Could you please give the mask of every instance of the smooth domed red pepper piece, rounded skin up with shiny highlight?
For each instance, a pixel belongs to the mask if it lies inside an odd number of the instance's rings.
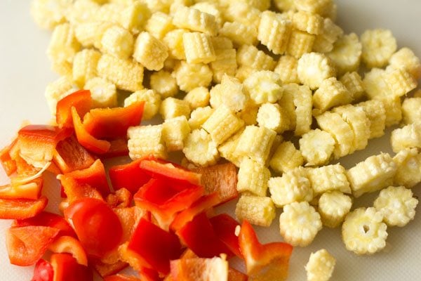
[[[104,201],[82,198],[70,204],[64,213],[87,254],[102,258],[119,246],[123,228]]]

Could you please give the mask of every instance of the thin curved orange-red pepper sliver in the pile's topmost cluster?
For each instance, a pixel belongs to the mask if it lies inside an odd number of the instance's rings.
[[[83,148],[98,154],[103,154],[109,150],[111,144],[108,141],[98,140],[98,138],[94,138],[86,131],[74,107],[72,107],[72,118],[77,141]]]

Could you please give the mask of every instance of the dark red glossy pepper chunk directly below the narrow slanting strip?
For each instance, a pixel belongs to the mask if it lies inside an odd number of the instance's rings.
[[[218,239],[205,213],[195,216],[192,221],[177,231],[177,235],[187,247],[194,251],[194,254],[201,258],[213,258],[220,254],[234,256],[232,251]]]

